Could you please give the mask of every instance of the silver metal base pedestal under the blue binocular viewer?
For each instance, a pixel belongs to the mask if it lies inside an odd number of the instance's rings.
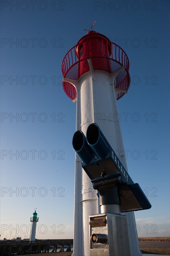
[[[131,255],[125,215],[91,215],[90,237],[91,256]]]

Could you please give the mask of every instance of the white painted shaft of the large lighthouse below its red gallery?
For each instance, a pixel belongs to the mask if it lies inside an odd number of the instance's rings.
[[[83,74],[78,81],[70,80],[77,90],[76,130],[86,135],[88,126],[96,122],[115,152],[124,152],[115,92],[115,74],[102,70]],[[121,71],[121,69],[120,69]],[[66,81],[63,79],[63,81]],[[69,81],[69,79],[67,79]],[[125,156],[121,162],[127,170]],[[81,167],[76,154],[75,162],[75,208],[74,208],[74,249],[73,256],[90,255],[89,215],[98,214],[98,197],[92,188],[92,182]],[[134,213],[127,213],[127,231],[130,240],[131,256],[141,256],[138,247]]]

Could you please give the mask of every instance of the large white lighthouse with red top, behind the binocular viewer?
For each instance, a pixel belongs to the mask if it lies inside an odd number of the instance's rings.
[[[111,147],[120,153],[119,159],[127,170],[117,118],[117,100],[130,86],[129,59],[124,50],[105,35],[88,31],[65,55],[62,73],[65,93],[77,102],[76,130],[86,134],[90,124],[98,124]],[[98,213],[96,190],[76,154],[73,256],[90,255],[89,216]],[[141,256],[134,213],[125,215],[130,255]]]

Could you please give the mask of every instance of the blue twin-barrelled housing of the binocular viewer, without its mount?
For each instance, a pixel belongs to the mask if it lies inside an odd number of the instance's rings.
[[[77,131],[72,144],[94,189],[98,189],[98,182],[112,182],[117,178],[115,184],[119,189],[121,212],[151,208],[139,184],[132,181],[96,123],[87,128],[87,139],[82,131]]]

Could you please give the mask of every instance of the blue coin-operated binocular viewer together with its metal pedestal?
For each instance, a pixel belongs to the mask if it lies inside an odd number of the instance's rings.
[[[101,214],[90,216],[91,256],[130,256],[126,216],[122,212],[150,209],[151,204],[134,183],[96,123],[73,135],[72,145],[82,168],[98,190]]]

